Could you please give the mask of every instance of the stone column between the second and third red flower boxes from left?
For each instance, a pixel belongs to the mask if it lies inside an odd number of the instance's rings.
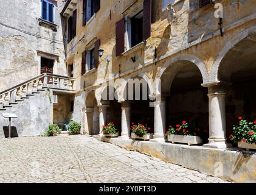
[[[158,96],[154,106],[154,138],[150,141],[163,143],[166,141],[166,97]]]

